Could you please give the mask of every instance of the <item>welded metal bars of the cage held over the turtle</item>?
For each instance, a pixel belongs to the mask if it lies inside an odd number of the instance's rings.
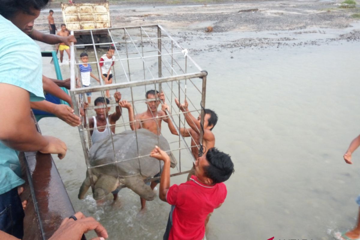
[[[148,30],[150,29],[150,30]],[[171,83],[171,86],[173,86],[173,83],[178,85],[178,97],[179,100],[180,99],[180,95],[184,95],[184,99],[187,99],[190,101],[190,103],[192,104],[194,110],[189,110],[189,113],[191,112],[195,112],[195,113],[200,113],[200,122],[201,122],[201,126],[203,126],[204,124],[204,116],[205,116],[205,112],[204,112],[204,108],[205,108],[205,97],[206,97],[206,78],[207,78],[207,72],[204,71],[201,67],[199,67],[199,65],[197,63],[195,63],[195,61],[191,58],[191,56],[188,55],[188,51],[187,49],[181,47],[177,41],[171,37],[168,32],[161,26],[161,25],[146,25],[146,26],[132,26],[132,27],[113,27],[113,28],[104,28],[104,29],[100,29],[100,30],[104,30],[108,32],[108,37],[109,37],[109,42],[105,42],[105,43],[95,43],[94,41],[94,36],[95,36],[95,31],[99,31],[99,29],[96,30],[75,30],[75,31],[71,31],[71,34],[73,35],[74,33],[90,33],[91,38],[93,40],[92,44],[80,44],[80,45],[74,45],[73,43],[71,43],[70,46],[70,53],[71,53],[71,59],[70,59],[70,79],[71,79],[71,89],[70,89],[70,95],[72,98],[72,102],[74,103],[74,110],[75,113],[77,115],[80,116],[80,108],[83,108],[83,103],[86,100],[86,93],[87,92],[101,92],[101,96],[105,96],[105,91],[106,90],[118,90],[118,89],[126,89],[129,88],[131,91],[131,104],[134,106],[134,98],[133,98],[133,93],[132,93],[132,88],[133,87],[138,87],[138,86],[146,86],[147,85],[154,85],[155,90],[161,92],[162,90],[162,84],[167,84]],[[134,38],[134,36],[132,36],[129,32],[130,31],[136,31],[139,30],[140,32],[140,38],[139,36],[137,36],[137,39]],[[148,33],[148,31],[152,31],[152,33],[156,33],[155,36],[150,36]],[[113,31],[123,31],[125,38],[123,37],[121,41],[116,41],[114,40],[114,37],[112,35]],[[144,37],[143,37],[144,36]],[[165,42],[165,40],[171,43],[171,49],[167,49],[166,46],[163,44],[163,42]],[[151,74],[151,71],[149,69],[149,66],[147,66],[146,63],[146,58],[148,58],[148,56],[145,56],[144,51],[141,52],[138,47],[136,46],[136,44],[140,44],[141,49],[143,49],[143,45],[146,43],[150,43],[151,45],[155,46],[155,50],[153,50],[153,52],[155,52],[155,55],[152,55],[152,57],[157,57],[157,65],[158,65],[158,74],[157,76],[153,76]],[[117,45],[122,44],[126,46],[126,54],[120,54],[117,48]],[[108,45],[108,46],[115,46],[115,58],[117,61],[120,61],[122,69],[123,69],[123,74],[126,78],[127,81],[125,82],[115,82],[112,84],[107,84],[105,85],[104,81],[102,81],[102,76],[100,73],[100,62],[99,62],[99,56],[97,54],[97,49],[96,47],[100,47],[100,46],[104,46],[104,45]],[[130,67],[129,67],[129,60],[131,59],[135,59],[135,58],[130,58],[129,55],[130,54],[134,54],[134,53],[129,53],[128,52],[128,45],[132,45],[134,47],[134,49],[138,50],[138,54],[139,56],[136,57],[138,59],[141,59],[143,62],[143,71],[144,71],[144,79],[131,79],[131,72],[130,72]],[[100,85],[99,86],[89,86],[89,87],[81,87],[80,83],[79,83],[79,77],[80,77],[80,72],[79,72],[79,68],[78,65],[80,65],[81,63],[79,63],[79,61],[77,60],[77,53],[76,53],[76,49],[77,47],[92,47],[94,50],[94,54],[95,54],[95,62],[89,62],[88,64],[96,64],[96,67],[98,69],[98,73],[99,73],[99,80],[100,80]],[[175,49],[175,51],[174,51]],[[122,58],[121,55],[126,55],[125,58]],[[178,60],[175,58],[178,57],[179,55],[181,56],[180,58],[183,58],[182,61],[185,64],[183,67],[181,67],[179,65],[179,63],[177,62]],[[171,64],[166,61],[165,57],[170,56],[171,58]],[[126,69],[122,62],[123,61],[127,61],[127,66],[128,69]],[[182,63],[182,64],[183,64]],[[192,64],[192,66],[195,67],[195,71],[189,73],[188,72],[188,65]],[[175,71],[175,69],[173,68],[174,65],[178,65],[179,69],[181,69],[181,71],[179,73],[177,73],[177,71]],[[153,66],[151,66],[153,67]],[[169,70],[170,68],[170,70]],[[163,70],[166,69],[168,72],[167,76],[164,76],[164,72]],[[112,67],[112,70],[114,72],[115,75],[115,69],[114,67]],[[128,70],[128,72],[127,72]],[[149,71],[151,77],[150,78],[146,78],[145,77],[145,71]],[[201,87],[197,87],[195,85],[195,80],[196,81],[201,81]],[[181,82],[185,82],[185,89],[182,89],[180,86]],[[187,84],[194,86],[197,91],[201,94],[201,103],[200,104],[194,104],[191,102],[190,98],[188,98],[188,96],[186,96],[186,86]],[[157,87],[158,86],[158,87]],[[182,91],[182,93],[180,93],[180,90]],[[171,88],[171,98],[169,98],[168,96],[166,96],[167,99],[173,99],[173,94],[174,92],[172,91]],[[175,95],[175,94],[174,94]],[[176,95],[175,95],[176,96]],[[144,100],[146,101],[146,99]],[[162,103],[162,101],[161,101]],[[107,104],[105,101],[105,108],[107,107],[112,107],[112,106],[116,106],[117,103],[113,103],[113,104]],[[176,112],[176,108],[178,110],[178,112]],[[87,110],[90,109],[96,109],[96,106],[89,106]],[[171,113],[171,112],[172,113]],[[170,152],[174,151],[174,150],[179,150],[179,162],[178,162],[178,172],[176,173],[172,173],[171,176],[177,176],[177,175],[181,175],[181,174],[185,174],[190,172],[190,170],[188,171],[181,171],[181,151],[182,149],[186,149],[189,153],[189,155],[191,156],[190,158],[192,159],[192,162],[195,162],[195,158],[193,157],[193,154],[191,153],[191,146],[189,146],[184,137],[181,136],[180,134],[180,126],[185,126],[185,118],[183,119],[183,121],[181,121],[181,116],[184,117],[184,113],[186,112],[181,112],[180,108],[178,108],[176,105],[175,107],[172,105],[170,105],[170,111],[166,110],[166,113],[170,119],[170,121],[172,122],[172,124],[175,126],[176,131],[179,135],[179,148],[178,149],[170,149]],[[134,113],[135,113],[135,106],[134,106]],[[106,116],[106,118],[108,118],[108,114]],[[157,117],[157,116],[156,116]],[[175,118],[178,117],[179,121],[175,121]],[[154,117],[155,118],[155,117]],[[84,119],[82,119],[84,120]],[[80,139],[81,139],[81,144],[82,144],[82,148],[84,151],[84,157],[85,157],[85,162],[86,162],[86,167],[87,167],[87,173],[89,174],[90,177],[90,183],[91,183],[91,187],[94,191],[94,181],[93,181],[93,174],[91,169],[95,168],[95,167],[99,167],[99,166],[90,166],[89,163],[89,149],[91,147],[91,138],[90,138],[90,130],[93,130],[94,128],[89,128],[89,124],[88,121],[86,121],[87,124],[86,126],[83,124],[84,121],[82,121],[82,124],[80,126],[78,126],[78,130],[79,130],[79,134],[80,134]],[[129,125],[130,126],[130,122],[127,121],[122,121],[122,123],[116,123],[116,124],[110,124],[108,127],[112,127],[112,126],[125,126],[125,125]],[[159,129],[159,127],[158,127]],[[202,143],[203,142],[203,130],[198,129],[199,131],[199,142]],[[135,134],[136,134],[136,129],[135,129]],[[137,140],[136,140],[137,141]],[[180,148],[180,142],[183,143],[183,145],[185,146],[184,148]],[[198,148],[200,148],[200,145],[197,145]],[[115,154],[115,148],[113,145],[113,150],[114,150],[114,154]],[[148,155],[139,155],[138,152],[138,157],[137,158],[141,158],[141,157],[146,157],[149,156]],[[115,157],[115,162],[113,163],[108,163],[108,164],[115,164],[118,161],[116,160],[116,155]],[[127,159],[127,160],[131,160],[131,159]],[[101,165],[101,166],[104,166]],[[140,166],[139,166],[140,167]],[[159,172],[161,172],[161,167],[159,164]],[[141,171],[141,170],[140,170]],[[153,181],[158,179],[159,177],[152,177],[149,178],[147,180],[145,180],[145,182],[148,181]]]

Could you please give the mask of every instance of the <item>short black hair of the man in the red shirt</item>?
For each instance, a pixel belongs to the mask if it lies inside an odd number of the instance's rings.
[[[206,153],[209,166],[204,167],[204,175],[210,178],[214,184],[225,182],[234,172],[234,163],[228,154],[210,148]]]

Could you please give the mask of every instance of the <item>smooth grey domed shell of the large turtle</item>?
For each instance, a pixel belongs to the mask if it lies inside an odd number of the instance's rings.
[[[170,150],[163,136],[146,129],[124,131],[95,142],[89,150],[89,162],[96,172],[121,177],[140,173],[144,178],[160,172],[163,162],[150,157],[155,145]],[[161,164],[161,165],[160,165]]]

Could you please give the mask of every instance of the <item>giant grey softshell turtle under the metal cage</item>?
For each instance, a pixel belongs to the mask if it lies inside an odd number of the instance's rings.
[[[136,136],[138,146],[136,144]],[[163,136],[157,136],[146,129],[136,130],[136,134],[135,131],[131,130],[121,132],[95,142],[89,150],[90,166],[99,166],[91,168],[95,184],[94,199],[102,199],[116,190],[118,186],[125,185],[140,197],[148,201],[153,200],[155,197],[154,191],[144,183],[144,179],[153,177],[160,172],[160,162],[150,156],[138,157],[149,155],[155,145],[158,145],[165,151],[170,150],[170,146]],[[116,161],[118,161],[116,165],[114,164],[115,156]],[[176,159],[172,154],[169,154],[169,156],[171,166],[174,168],[176,166]],[[108,163],[113,164],[101,166]],[[84,198],[90,185],[90,178],[86,173],[86,179],[80,187],[79,199]]]

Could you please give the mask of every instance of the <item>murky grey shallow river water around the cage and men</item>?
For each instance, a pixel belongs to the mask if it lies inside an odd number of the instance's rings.
[[[214,33],[189,46],[220,44],[224,37]],[[216,146],[235,164],[207,239],[326,240],[355,224],[360,151],[353,165],[342,155],[360,133],[359,53],[358,42],[334,41],[193,55],[208,71],[206,107],[219,115]],[[77,211],[98,219],[110,239],[162,238],[167,203],[156,198],[139,215],[139,197],[129,189],[120,191],[115,204],[109,198],[96,206],[90,191],[78,200],[86,166],[77,128],[55,118],[42,119],[40,127],[68,145],[66,158],[54,159]],[[171,183],[184,180],[174,177]]]

